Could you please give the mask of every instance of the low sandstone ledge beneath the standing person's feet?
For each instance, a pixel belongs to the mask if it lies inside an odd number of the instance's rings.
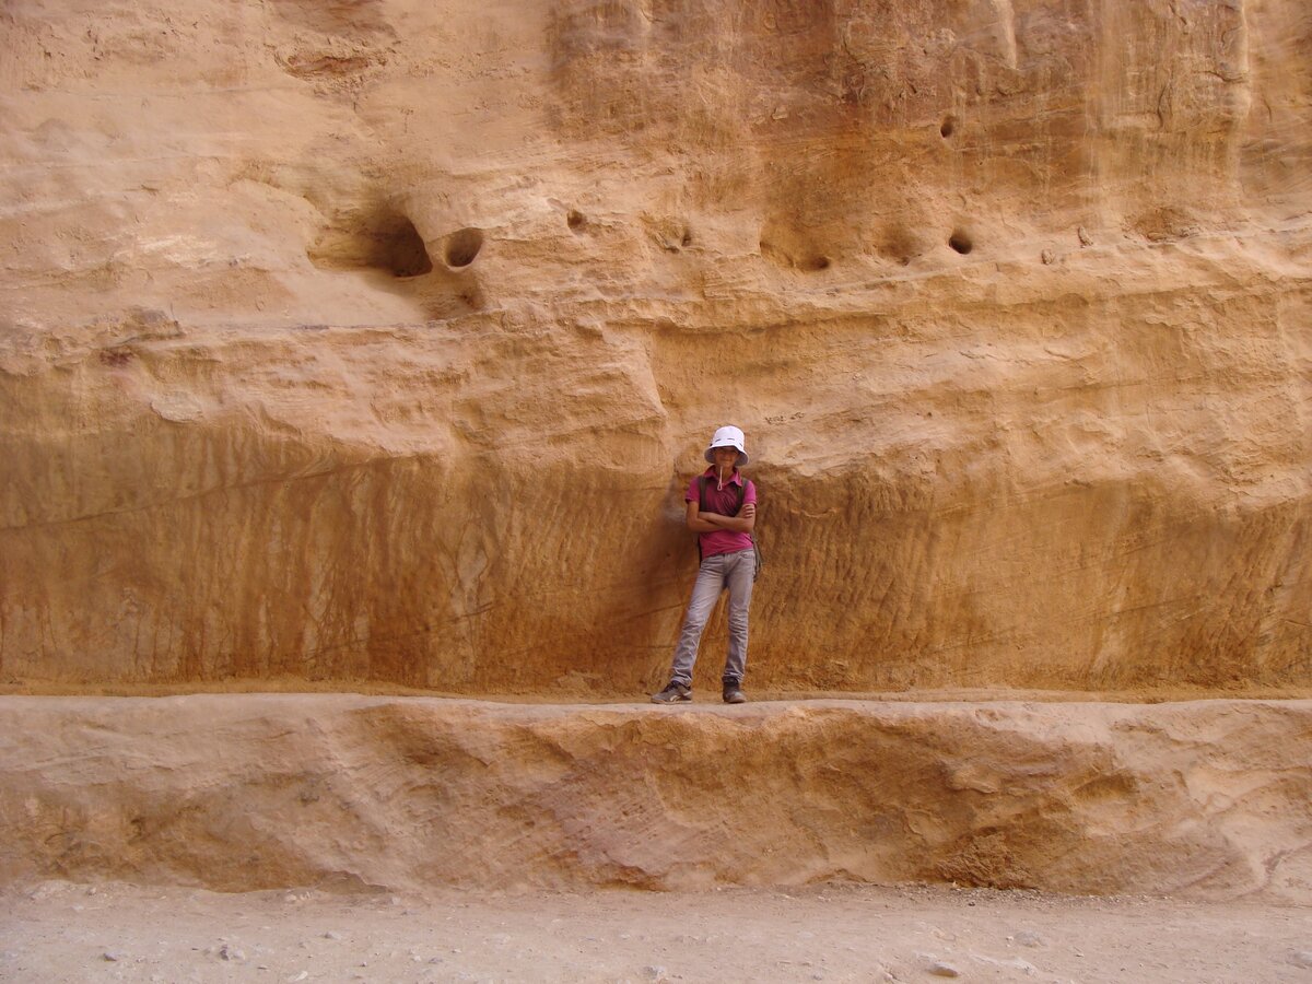
[[[0,698],[0,883],[1312,903],[1312,702]]]

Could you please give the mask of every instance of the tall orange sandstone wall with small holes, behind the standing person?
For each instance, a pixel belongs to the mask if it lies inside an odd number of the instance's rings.
[[[1312,684],[1304,0],[0,24],[0,681]]]

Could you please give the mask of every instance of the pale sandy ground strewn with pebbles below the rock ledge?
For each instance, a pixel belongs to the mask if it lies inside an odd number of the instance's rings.
[[[1312,981],[1312,911],[929,887],[9,891],[14,981]]]

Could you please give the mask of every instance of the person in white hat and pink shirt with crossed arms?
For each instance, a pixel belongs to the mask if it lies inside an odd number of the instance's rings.
[[[693,699],[693,664],[706,628],[706,619],[720,594],[729,593],[729,649],[720,682],[724,703],[745,703],[743,673],[747,669],[747,621],[756,580],[756,484],[739,471],[748,463],[743,432],[723,426],[715,432],[703,455],[710,467],[687,485],[687,529],[697,533],[702,564],[687,604],[684,628],[674,647],[669,684],[653,703]]]

